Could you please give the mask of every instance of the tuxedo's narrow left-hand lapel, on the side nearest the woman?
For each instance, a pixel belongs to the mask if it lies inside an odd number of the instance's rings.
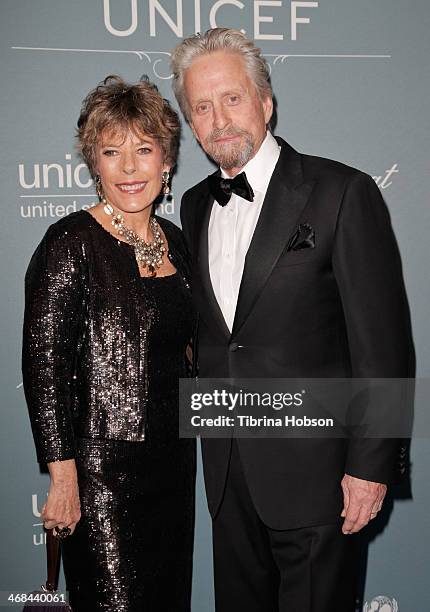
[[[198,275],[200,277],[200,286],[202,289],[202,303],[200,305],[200,311],[201,313],[203,313],[205,310],[208,311],[209,316],[216,322],[221,333],[227,338],[230,338],[230,330],[227,327],[224,316],[215,297],[209,273],[208,229],[214,199],[210,195],[209,191],[207,192],[207,194],[204,194],[203,199],[205,203],[199,204],[199,208],[202,213],[199,222],[196,224],[195,237],[195,244],[197,245],[197,270]]]

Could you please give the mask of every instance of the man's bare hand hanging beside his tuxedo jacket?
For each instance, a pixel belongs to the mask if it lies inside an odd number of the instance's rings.
[[[345,517],[342,532],[357,533],[378,514],[382,508],[387,485],[370,482],[345,474],[342,478],[343,510]]]

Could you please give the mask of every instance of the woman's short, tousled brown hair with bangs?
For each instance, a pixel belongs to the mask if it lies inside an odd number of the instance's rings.
[[[110,75],[86,96],[78,119],[79,150],[93,177],[96,145],[103,132],[125,132],[130,128],[139,135],[154,138],[164,161],[175,164],[181,128],[178,114],[168,100],[146,76],[137,83],[127,83]]]

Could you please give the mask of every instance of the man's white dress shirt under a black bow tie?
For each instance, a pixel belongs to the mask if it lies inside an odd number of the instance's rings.
[[[255,156],[241,172],[254,192],[254,201],[232,194],[225,206],[214,202],[209,219],[209,273],[215,297],[230,332],[233,328],[237,298],[245,257],[257,225],[267,187],[279,158],[280,147],[268,131]],[[230,178],[221,168],[224,178]]]

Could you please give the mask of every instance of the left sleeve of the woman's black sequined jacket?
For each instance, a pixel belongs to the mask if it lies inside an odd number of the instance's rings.
[[[25,275],[24,393],[40,463],[74,457],[72,385],[83,285],[79,246],[51,226]]]

